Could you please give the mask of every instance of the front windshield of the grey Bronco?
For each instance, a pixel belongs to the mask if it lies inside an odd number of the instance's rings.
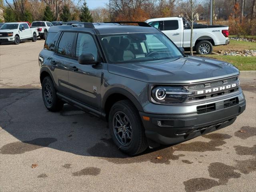
[[[112,63],[183,57],[178,48],[161,33],[102,35],[100,40],[107,59]]]

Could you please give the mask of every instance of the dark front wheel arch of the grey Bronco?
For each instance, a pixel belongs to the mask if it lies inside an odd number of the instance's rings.
[[[102,99],[102,109],[106,114],[107,121],[111,107],[120,100],[130,100],[138,111],[144,111],[140,102],[130,92],[123,88],[111,88]]]

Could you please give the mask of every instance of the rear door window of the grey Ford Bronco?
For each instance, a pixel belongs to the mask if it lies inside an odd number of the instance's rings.
[[[64,32],[58,46],[58,54],[63,56],[72,56],[72,46],[76,33]]]

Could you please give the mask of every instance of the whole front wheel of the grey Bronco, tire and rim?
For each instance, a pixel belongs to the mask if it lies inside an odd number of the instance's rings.
[[[116,102],[109,114],[110,134],[118,148],[129,155],[143,152],[148,147],[138,110],[129,100]]]

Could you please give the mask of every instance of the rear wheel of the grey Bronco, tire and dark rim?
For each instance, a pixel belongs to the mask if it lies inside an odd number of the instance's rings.
[[[49,111],[57,112],[62,109],[64,103],[58,99],[54,84],[49,76],[45,77],[42,82],[42,97],[44,105]]]

